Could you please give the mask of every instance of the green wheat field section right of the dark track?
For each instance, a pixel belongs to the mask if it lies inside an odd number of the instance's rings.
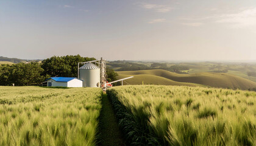
[[[188,86],[107,90],[133,145],[256,145],[256,92]]]

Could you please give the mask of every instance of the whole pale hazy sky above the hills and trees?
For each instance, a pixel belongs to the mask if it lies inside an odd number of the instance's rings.
[[[1,0],[0,56],[256,60],[256,1]]]

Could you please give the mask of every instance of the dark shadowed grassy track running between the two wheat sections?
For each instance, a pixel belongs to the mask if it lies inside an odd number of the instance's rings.
[[[102,94],[102,109],[99,116],[98,145],[125,145],[118,122],[107,94]]]

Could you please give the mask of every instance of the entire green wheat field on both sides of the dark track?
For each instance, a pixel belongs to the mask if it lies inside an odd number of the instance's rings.
[[[0,86],[0,145],[99,145],[102,98],[126,145],[256,145],[256,92],[132,85],[102,95],[99,88]]]

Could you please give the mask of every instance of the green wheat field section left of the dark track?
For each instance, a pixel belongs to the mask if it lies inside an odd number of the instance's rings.
[[[95,145],[101,94],[0,86],[0,145]]]

